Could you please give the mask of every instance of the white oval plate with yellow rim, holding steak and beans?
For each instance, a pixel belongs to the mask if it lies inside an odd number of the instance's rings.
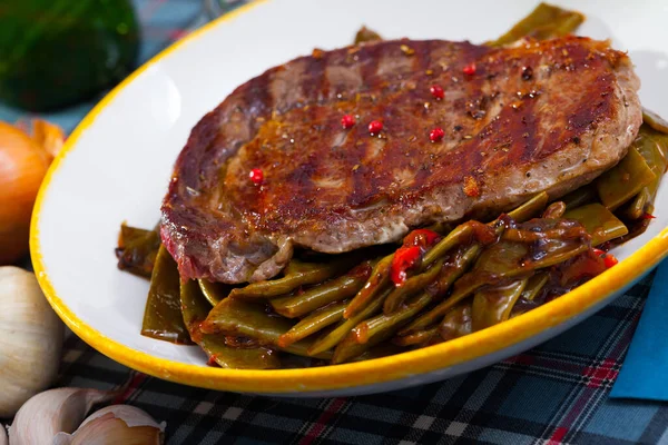
[[[610,38],[616,48],[629,51],[642,80],[642,103],[668,116],[668,3],[559,3],[588,16],[579,33]],[[120,273],[114,256],[121,221],[151,227],[158,220],[173,162],[190,128],[236,86],[314,47],[346,46],[362,24],[386,38],[480,42],[500,36],[534,6],[533,0],[272,0],[244,7],[178,42],[98,105],[42,186],[31,251],[51,305],[86,342],[128,366],[197,386],[293,396],[360,394],[448,378],[580,322],[666,254],[667,187],[659,192],[657,219],[647,233],[616,250],[623,261],[578,290],[455,342],[335,367],[212,368],[197,347],[140,336],[148,284]]]

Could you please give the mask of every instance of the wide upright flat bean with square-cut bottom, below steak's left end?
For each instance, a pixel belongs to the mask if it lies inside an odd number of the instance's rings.
[[[158,250],[150,276],[141,335],[176,344],[191,343],[181,316],[176,261],[164,246]]]

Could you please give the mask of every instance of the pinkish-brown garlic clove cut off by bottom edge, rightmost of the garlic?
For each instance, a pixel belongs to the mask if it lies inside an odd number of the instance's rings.
[[[112,405],[91,414],[73,434],[59,433],[53,445],[160,445],[165,424],[130,405]]]

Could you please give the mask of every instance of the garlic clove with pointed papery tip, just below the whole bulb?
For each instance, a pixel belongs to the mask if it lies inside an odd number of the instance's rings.
[[[58,388],[32,396],[9,428],[12,445],[50,444],[59,432],[71,433],[92,405],[109,402],[116,392]]]

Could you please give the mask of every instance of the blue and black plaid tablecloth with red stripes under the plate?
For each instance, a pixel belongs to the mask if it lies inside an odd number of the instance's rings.
[[[205,20],[195,0],[136,0],[143,59]],[[94,103],[47,119],[68,131]],[[0,107],[0,119],[20,112]],[[58,385],[118,388],[168,444],[668,444],[668,405],[612,400],[610,388],[651,276],[587,322],[492,367],[393,393],[286,399],[218,393],[135,373],[70,335]],[[667,377],[668,378],[668,377]]]

